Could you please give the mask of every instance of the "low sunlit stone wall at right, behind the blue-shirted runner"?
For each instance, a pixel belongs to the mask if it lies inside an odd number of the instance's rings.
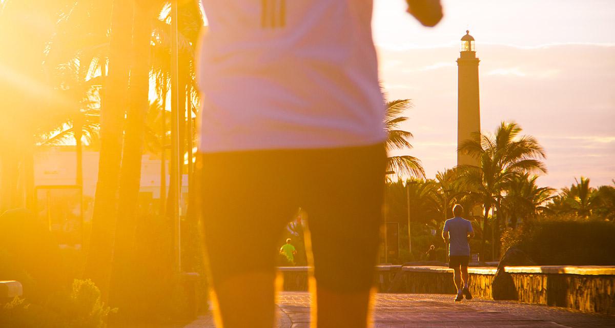
[[[615,314],[615,266],[506,266],[520,302]],[[453,270],[403,267],[393,292],[455,294]],[[469,268],[472,295],[491,298],[494,268]]]

